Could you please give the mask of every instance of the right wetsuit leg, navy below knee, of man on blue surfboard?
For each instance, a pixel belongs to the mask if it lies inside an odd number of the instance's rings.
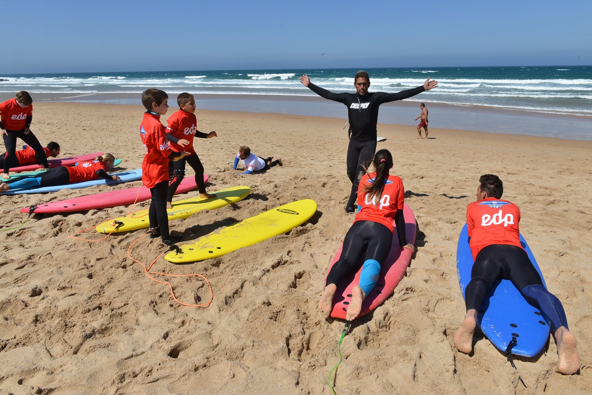
[[[561,326],[568,328],[567,317],[561,302],[543,286],[543,281],[526,251],[515,245],[502,247],[506,251],[505,259],[509,263],[510,280],[527,302],[539,309],[543,317],[549,320],[553,331]]]

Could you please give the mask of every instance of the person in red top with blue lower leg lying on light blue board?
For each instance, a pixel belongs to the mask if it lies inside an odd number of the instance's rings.
[[[113,167],[115,157],[102,154],[95,160],[78,163],[78,166],[57,166],[48,169],[39,177],[22,176],[0,184],[0,193],[10,189],[31,189],[39,186],[65,185],[98,179],[119,180],[119,176],[110,176],[107,170]]]

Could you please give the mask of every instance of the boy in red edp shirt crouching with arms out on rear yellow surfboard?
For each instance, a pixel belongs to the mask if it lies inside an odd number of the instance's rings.
[[[169,193],[166,198],[166,208],[172,208],[171,202],[177,187],[185,177],[185,163],[195,171],[195,183],[200,191],[200,198],[215,198],[216,195],[205,192],[204,185],[204,166],[201,164],[200,157],[195,153],[193,147],[194,137],[212,138],[217,137],[215,131],[203,133],[197,129],[197,118],[195,118],[195,99],[191,93],[181,93],[177,96],[179,111],[169,116],[167,119],[166,139],[169,141],[169,148],[175,152],[187,151],[188,156],[179,159],[173,163],[175,169],[175,179],[169,185]]]

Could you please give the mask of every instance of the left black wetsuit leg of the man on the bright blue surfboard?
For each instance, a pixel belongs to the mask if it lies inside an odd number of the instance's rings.
[[[499,244],[488,245],[477,254],[471,269],[471,281],[465,288],[466,310],[478,310],[491,285],[501,276],[500,257],[496,254]]]

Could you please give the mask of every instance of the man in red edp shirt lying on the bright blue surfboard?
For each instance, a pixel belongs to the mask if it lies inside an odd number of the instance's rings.
[[[472,351],[477,310],[491,285],[501,277],[512,281],[527,302],[539,309],[551,323],[559,354],[558,373],[577,373],[580,356],[575,336],[568,329],[563,306],[543,286],[538,271],[520,244],[520,209],[507,200],[501,200],[503,192],[499,177],[485,174],[479,179],[477,202],[466,208],[469,246],[475,264],[471,270],[471,282],[465,289],[465,319],[456,333],[454,345],[465,354]]]

